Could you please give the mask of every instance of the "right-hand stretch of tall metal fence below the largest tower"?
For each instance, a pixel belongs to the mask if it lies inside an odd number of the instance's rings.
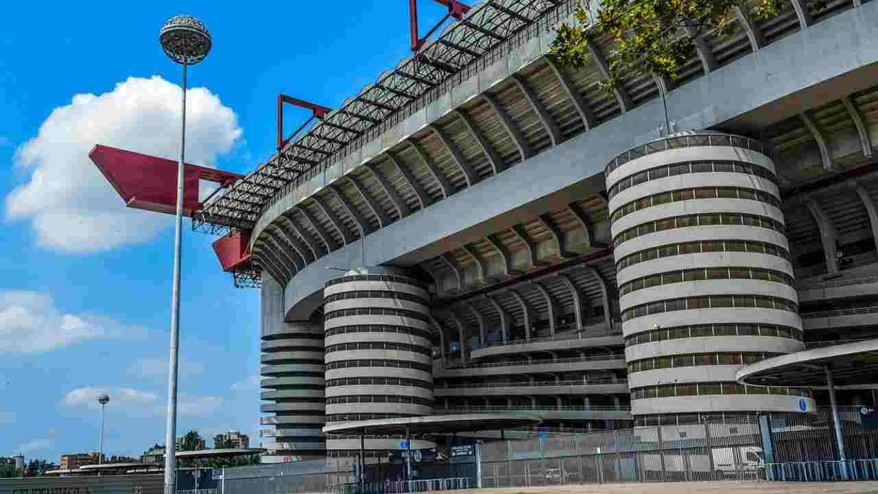
[[[831,410],[820,410],[768,416],[761,428],[753,416],[486,443],[482,481],[485,487],[523,487],[878,478],[878,429],[864,427],[855,407],[839,407],[839,414],[847,461],[839,461]]]

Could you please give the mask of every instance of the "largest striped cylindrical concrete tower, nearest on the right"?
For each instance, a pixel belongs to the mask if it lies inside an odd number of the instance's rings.
[[[774,163],[759,142],[674,134],[606,174],[636,425],[813,410],[804,390],[738,384],[802,350]]]

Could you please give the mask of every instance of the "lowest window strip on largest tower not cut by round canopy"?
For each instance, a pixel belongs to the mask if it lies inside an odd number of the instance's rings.
[[[723,336],[762,336],[802,341],[801,330],[789,326],[762,323],[715,323],[673,326],[644,331],[625,338],[625,346],[640,345],[666,339],[713,338]]]

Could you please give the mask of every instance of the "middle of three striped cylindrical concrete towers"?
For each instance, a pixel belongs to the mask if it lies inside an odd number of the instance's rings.
[[[324,290],[327,423],[432,415],[429,294],[387,268],[349,272]],[[329,449],[358,449],[359,441]],[[370,449],[396,449],[370,441]],[[356,443],[356,444],[353,444]]]

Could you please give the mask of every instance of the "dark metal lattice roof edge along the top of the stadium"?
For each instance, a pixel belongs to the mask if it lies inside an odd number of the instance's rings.
[[[523,43],[538,34],[537,21],[570,0],[486,0],[459,21],[446,25],[415,57],[385,70],[342,107],[327,114],[305,134],[294,136],[255,171],[216,194],[192,217],[192,228],[211,233],[252,229],[278,193],[286,193],[327,166],[362,147],[411,113],[426,106],[502,56],[509,40]],[[552,25],[557,18],[549,19]],[[548,25],[548,24],[547,24]],[[546,27],[548,28],[548,27]],[[531,33],[533,31],[533,33]]]

